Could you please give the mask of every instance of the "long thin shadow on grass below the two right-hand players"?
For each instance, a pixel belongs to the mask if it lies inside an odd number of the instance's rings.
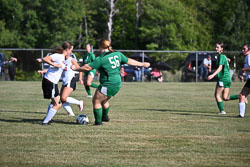
[[[147,110],[147,111],[158,111],[158,112],[169,112],[175,115],[187,115],[187,116],[206,116],[216,118],[238,118],[238,116],[220,115],[216,112],[199,112],[199,111],[187,111],[187,110],[171,110],[171,109],[135,109],[135,110]]]

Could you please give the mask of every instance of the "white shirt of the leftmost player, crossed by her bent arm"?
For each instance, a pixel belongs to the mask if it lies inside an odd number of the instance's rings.
[[[55,53],[50,55],[52,58],[52,62],[55,64],[64,64],[65,56],[63,54]],[[57,68],[54,66],[49,66],[48,71],[46,72],[44,78],[53,82],[54,84],[58,84],[59,79],[62,75],[63,68]]]

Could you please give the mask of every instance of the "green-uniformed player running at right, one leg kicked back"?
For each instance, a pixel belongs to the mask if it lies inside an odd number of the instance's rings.
[[[223,43],[219,42],[216,44],[216,53],[218,53],[218,58],[216,61],[217,70],[208,76],[208,80],[211,80],[215,75],[218,76],[218,81],[215,88],[215,99],[217,106],[220,110],[219,114],[226,114],[223,107],[224,101],[236,100],[239,99],[239,95],[229,96],[229,88],[231,87],[232,80],[229,72],[229,63],[230,59],[226,57],[223,53]],[[222,94],[222,98],[221,98]]]

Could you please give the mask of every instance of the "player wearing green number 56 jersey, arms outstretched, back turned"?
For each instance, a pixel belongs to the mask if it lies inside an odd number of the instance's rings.
[[[95,116],[94,125],[102,125],[102,122],[108,122],[109,116],[109,102],[108,100],[115,96],[122,85],[120,67],[122,64],[129,64],[132,66],[140,66],[148,68],[150,66],[147,62],[138,62],[136,60],[127,58],[121,52],[115,52],[111,48],[110,40],[103,39],[100,41],[101,55],[97,57],[93,62],[85,64],[82,67],[76,68],[72,66],[76,71],[91,71],[97,69],[100,71],[100,85],[95,91],[93,97],[93,110]]]

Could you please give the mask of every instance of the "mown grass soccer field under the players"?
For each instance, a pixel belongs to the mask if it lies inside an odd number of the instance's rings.
[[[124,83],[101,127],[77,86],[72,97],[84,100],[90,124],[61,108],[41,126],[49,103],[41,82],[0,82],[0,166],[250,166],[250,104],[244,119],[237,100],[218,115],[215,83]]]

